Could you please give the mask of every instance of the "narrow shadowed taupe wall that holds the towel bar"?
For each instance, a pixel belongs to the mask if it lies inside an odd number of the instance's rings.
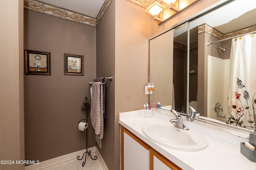
[[[115,149],[115,1],[97,25],[97,63],[96,77],[112,76],[112,81],[106,82],[106,121],[104,123],[104,137],[102,149],[98,147],[109,170],[114,170],[116,160]],[[119,158],[117,157],[117,160]]]

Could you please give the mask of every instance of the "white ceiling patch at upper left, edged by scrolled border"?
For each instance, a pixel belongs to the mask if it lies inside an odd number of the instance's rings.
[[[67,10],[97,18],[105,0],[39,0]]]

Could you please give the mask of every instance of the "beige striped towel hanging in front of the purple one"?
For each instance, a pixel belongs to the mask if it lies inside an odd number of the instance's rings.
[[[103,119],[103,88],[100,82],[92,83],[92,106],[91,121],[95,134],[100,139],[103,138],[104,119]]]

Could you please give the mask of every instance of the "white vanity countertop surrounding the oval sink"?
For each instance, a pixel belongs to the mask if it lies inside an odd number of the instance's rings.
[[[144,117],[143,109],[119,113],[119,123],[180,168],[184,170],[256,170],[256,163],[240,153],[240,142],[248,142],[247,138],[206,127],[196,121],[190,122],[183,119],[186,126],[205,135],[208,139],[206,149],[196,152],[182,151],[154,143],[143,134],[142,125],[150,121],[170,121],[175,117],[159,109],[152,109],[152,114],[151,118]]]

